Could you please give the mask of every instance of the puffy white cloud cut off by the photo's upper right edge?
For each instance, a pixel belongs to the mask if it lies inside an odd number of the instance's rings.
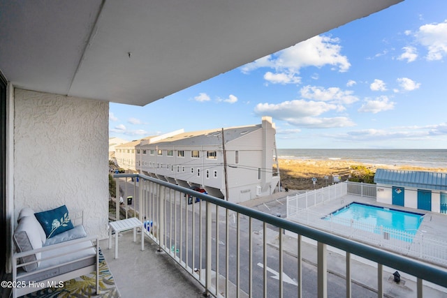
[[[416,32],[418,42],[427,47],[427,60],[441,60],[447,55],[447,20],[425,24]]]

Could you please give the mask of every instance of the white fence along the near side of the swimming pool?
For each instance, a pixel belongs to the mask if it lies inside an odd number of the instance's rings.
[[[296,211],[294,207],[291,213],[293,216],[288,217],[291,221],[447,266],[447,241],[432,239],[423,232],[385,228],[332,214],[318,214],[311,210]]]

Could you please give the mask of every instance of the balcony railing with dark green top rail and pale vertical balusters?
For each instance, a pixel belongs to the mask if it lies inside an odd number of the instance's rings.
[[[383,267],[413,276],[417,297],[423,297],[427,283],[447,292],[447,270],[444,267],[383,251],[142,174],[115,174],[114,177],[117,193],[120,184],[124,184],[124,189],[133,190],[133,204],[140,220],[152,222],[147,225],[147,236],[159,245],[160,251],[170,255],[196,278],[207,295],[328,297],[329,287],[331,292],[342,287],[346,297],[358,297],[353,287],[356,276],[351,270],[354,256],[376,264],[372,272],[356,274],[376,276],[376,285],[368,288],[372,288],[377,297],[384,295]],[[132,177],[138,179],[131,182],[129,178]],[[133,186],[126,186],[129,183]],[[286,231],[295,233],[297,238],[292,253],[290,247],[285,253]],[[277,247],[270,245],[272,237],[277,241]],[[316,241],[314,281],[309,281],[308,275],[312,273],[302,258],[304,237]],[[328,274],[329,248],[344,252],[346,283],[341,286]]]

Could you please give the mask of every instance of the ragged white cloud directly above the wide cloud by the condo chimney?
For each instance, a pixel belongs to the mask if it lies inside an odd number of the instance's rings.
[[[350,104],[358,101],[356,96],[353,96],[353,91],[339,89],[338,87],[330,87],[324,89],[323,87],[305,86],[300,90],[300,94],[303,98],[313,100],[323,100],[330,103]]]

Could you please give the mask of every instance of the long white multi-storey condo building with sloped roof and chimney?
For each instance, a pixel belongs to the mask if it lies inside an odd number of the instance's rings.
[[[263,117],[262,124],[145,137],[117,146],[115,156],[124,169],[244,202],[279,191],[275,133]]]

